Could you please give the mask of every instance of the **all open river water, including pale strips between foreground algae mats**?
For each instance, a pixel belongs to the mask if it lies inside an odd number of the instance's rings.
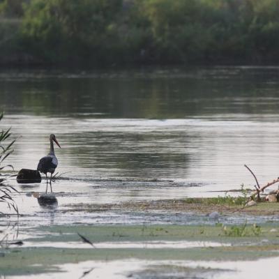
[[[0,127],[12,126],[13,138],[17,138],[15,152],[6,163],[13,164],[16,171],[22,167],[36,169],[38,160],[48,152],[50,133],[56,135],[62,147],[55,149],[59,160],[57,171],[62,173],[61,179],[53,183],[57,203],[39,204],[37,197],[45,191],[45,180],[24,185],[10,179],[10,185],[20,192],[15,200],[22,216],[0,218],[1,239],[5,235],[8,241],[22,239],[23,250],[27,246],[36,251],[33,246],[42,245],[63,249],[78,246],[86,251],[86,243],[80,239],[67,242],[61,236],[59,243],[29,239],[50,236],[40,227],[56,225],[68,226],[75,233],[78,225],[91,229],[111,225],[117,229],[117,225],[138,224],[143,228],[150,224],[187,228],[187,225],[216,222],[277,224],[278,216],[259,219],[238,213],[212,220],[191,212],[101,210],[100,206],[224,195],[226,190],[240,188],[241,183],[252,187],[255,181],[244,164],[255,171],[261,184],[276,179],[278,77],[277,67],[0,70],[0,111],[6,112]],[[96,210],[94,204],[99,206]],[[91,210],[86,210],[88,205]],[[4,206],[0,204],[0,211],[8,210]],[[115,243],[105,240],[96,246],[100,251],[130,247],[143,249],[144,253],[153,248],[175,247],[177,252],[194,249],[193,246],[205,249],[224,246],[216,240],[206,241],[134,243],[118,239]],[[261,241],[264,239],[259,238],[257,243]],[[165,250],[167,255],[169,250]],[[260,275],[262,278],[260,272],[266,269],[259,266],[274,269],[278,262],[278,258],[257,262],[179,262],[173,257],[170,254],[166,261],[68,263],[47,266],[42,274],[33,277],[66,278],[74,274],[82,278],[84,272],[90,271],[88,278],[131,275],[133,278]],[[269,276],[278,278],[276,272]]]

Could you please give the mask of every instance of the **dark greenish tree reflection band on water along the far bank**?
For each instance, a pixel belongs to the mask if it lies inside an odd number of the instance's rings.
[[[266,114],[279,102],[278,75],[272,67],[2,70],[1,107],[11,113],[102,118]]]

